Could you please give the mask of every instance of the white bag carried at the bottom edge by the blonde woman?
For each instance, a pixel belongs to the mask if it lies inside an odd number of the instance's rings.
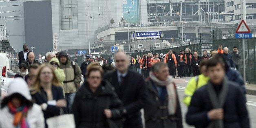
[[[75,128],[73,114],[64,114],[46,119],[48,128]]]

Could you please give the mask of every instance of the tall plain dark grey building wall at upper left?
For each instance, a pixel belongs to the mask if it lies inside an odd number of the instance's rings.
[[[51,0],[24,2],[25,43],[34,46],[35,59],[38,54],[53,51]]]

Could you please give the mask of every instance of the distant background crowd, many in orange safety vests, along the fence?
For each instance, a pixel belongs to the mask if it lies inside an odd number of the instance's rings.
[[[236,68],[238,70],[238,60],[241,56],[238,54],[237,47],[234,46],[233,50],[228,52],[228,48],[225,47],[222,51],[222,46],[220,45],[218,51],[212,50],[207,53],[206,50],[203,51],[203,55],[199,56],[198,51],[191,51],[186,48],[185,51],[181,50],[180,53],[169,50],[166,54],[163,53],[148,53],[142,56],[137,55],[136,58],[130,57],[131,66],[135,67],[135,70],[144,76],[144,78],[149,76],[150,67],[155,62],[165,62],[169,67],[169,74],[172,77],[191,77],[200,75],[199,64],[202,60],[211,59],[217,53],[221,53],[225,57],[225,61],[228,66]]]

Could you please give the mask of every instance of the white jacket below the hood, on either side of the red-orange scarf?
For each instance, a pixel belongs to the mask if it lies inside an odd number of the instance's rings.
[[[9,112],[8,106],[0,109],[0,128],[16,128],[13,126],[13,118],[14,115]],[[26,121],[29,128],[44,128],[44,114],[39,105],[33,104],[33,107],[28,110]]]

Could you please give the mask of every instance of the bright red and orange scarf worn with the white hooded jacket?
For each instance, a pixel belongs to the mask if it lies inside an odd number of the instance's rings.
[[[15,108],[11,102],[8,103],[10,112],[14,115],[13,125],[20,128],[29,128],[29,124],[26,121],[26,114],[29,110],[27,106],[21,106],[20,108]]]

